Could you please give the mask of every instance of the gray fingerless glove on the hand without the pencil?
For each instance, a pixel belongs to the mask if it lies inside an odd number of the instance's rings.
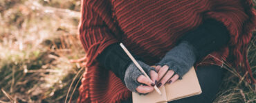
[[[196,49],[187,41],[182,41],[179,45],[171,49],[163,59],[156,65],[167,65],[174,73],[179,74],[179,80],[187,73],[196,62]]]

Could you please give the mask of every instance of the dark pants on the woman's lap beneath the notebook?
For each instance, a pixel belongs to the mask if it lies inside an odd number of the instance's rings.
[[[200,95],[195,95],[189,98],[183,98],[181,100],[175,100],[168,103],[210,103],[215,98],[215,95],[219,91],[219,86],[223,77],[223,68],[210,65],[205,67],[199,67],[196,70],[197,77],[202,89]],[[132,98],[122,101],[122,103],[131,103]]]

